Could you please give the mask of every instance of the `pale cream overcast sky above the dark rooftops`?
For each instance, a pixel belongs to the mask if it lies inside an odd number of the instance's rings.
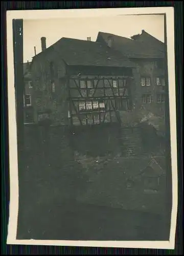
[[[24,20],[24,62],[31,61],[41,51],[42,36],[47,38],[47,47],[61,37],[96,41],[98,32],[107,32],[130,38],[144,29],[164,42],[164,15],[118,15],[94,18],[60,18]]]

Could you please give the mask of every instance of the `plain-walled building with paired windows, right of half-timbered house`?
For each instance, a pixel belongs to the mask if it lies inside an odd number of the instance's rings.
[[[135,63],[133,98],[136,110],[165,116],[165,45],[144,30],[131,39],[99,32],[97,41]]]

